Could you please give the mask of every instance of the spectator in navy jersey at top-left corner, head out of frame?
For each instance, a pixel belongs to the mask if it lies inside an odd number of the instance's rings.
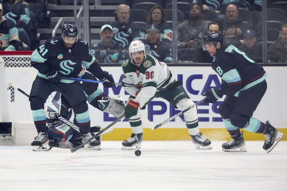
[[[30,12],[28,5],[18,0],[8,0],[3,4],[4,16],[6,19],[13,21],[18,29],[19,39],[23,42],[24,46],[30,50],[30,38],[28,36],[30,21]]]

